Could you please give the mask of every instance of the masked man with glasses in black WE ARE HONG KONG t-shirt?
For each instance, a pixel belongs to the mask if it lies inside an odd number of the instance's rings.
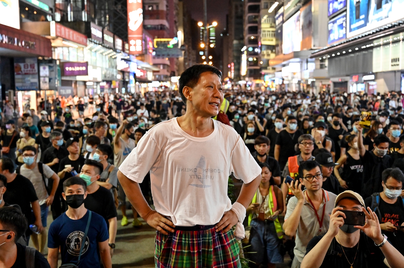
[[[366,207],[376,212],[381,231],[401,254],[404,254],[404,229],[399,229],[404,226],[404,199],[400,196],[403,183],[400,168],[387,168],[382,173],[383,191],[365,199]]]

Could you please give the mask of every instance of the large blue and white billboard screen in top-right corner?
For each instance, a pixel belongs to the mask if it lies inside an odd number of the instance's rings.
[[[404,17],[401,0],[348,0],[347,37],[352,37]]]

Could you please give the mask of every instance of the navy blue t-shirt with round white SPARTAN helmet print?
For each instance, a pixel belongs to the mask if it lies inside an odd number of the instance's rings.
[[[89,210],[79,220],[72,220],[63,213],[50,224],[48,233],[48,247],[61,247],[62,264],[77,264],[81,241],[86,231]],[[92,212],[90,227],[88,228],[86,242],[80,258],[80,268],[99,268],[100,262],[97,254],[97,243],[109,238],[107,224],[102,216]]]

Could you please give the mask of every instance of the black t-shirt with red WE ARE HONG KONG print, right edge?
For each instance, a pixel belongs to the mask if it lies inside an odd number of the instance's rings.
[[[366,207],[372,207],[372,197],[365,199],[365,205]],[[398,197],[394,204],[388,204],[380,197],[379,211],[381,215],[377,212],[376,215],[377,217],[381,216],[379,218],[381,224],[391,222],[394,226],[400,226],[404,222],[404,206],[401,197]],[[383,231],[383,233],[388,237],[391,245],[400,251],[401,254],[404,254],[404,232],[397,230],[396,232]]]

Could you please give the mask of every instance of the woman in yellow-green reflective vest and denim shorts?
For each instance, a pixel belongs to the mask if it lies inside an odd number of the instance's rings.
[[[275,268],[275,264],[283,263],[279,251],[283,231],[278,220],[283,211],[283,196],[275,185],[269,165],[265,162],[258,165],[262,168],[261,183],[247,208],[248,225],[251,226],[249,251],[255,252],[250,254],[250,260],[255,263],[250,267],[267,264],[268,268]],[[267,256],[266,260],[264,256]]]

